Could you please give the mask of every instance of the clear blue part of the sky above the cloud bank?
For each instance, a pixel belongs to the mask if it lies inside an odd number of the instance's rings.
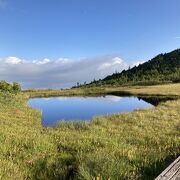
[[[0,1],[1,57],[145,60],[180,46],[179,0]]]

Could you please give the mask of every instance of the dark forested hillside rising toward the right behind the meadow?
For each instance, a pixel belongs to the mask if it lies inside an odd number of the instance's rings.
[[[155,58],[121,73],[93,81],[89,85],[151,85],[180,82],[180,49]]]

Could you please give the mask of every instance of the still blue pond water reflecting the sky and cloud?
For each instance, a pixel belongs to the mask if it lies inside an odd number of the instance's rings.
[[[60,121],[91,120],[94,116],[130,112],[153,107],[137,97],[114,95],[99,97],[51,97],[29,99],[28,104],[42,111],[42,125],[55,126]]]

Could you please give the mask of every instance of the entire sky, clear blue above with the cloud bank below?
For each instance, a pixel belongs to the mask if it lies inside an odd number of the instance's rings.
[[[180,0],[0,0],[0,79],[70,87],[180,47]]]

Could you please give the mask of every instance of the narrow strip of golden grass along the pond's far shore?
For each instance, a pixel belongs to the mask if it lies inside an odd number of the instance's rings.
[[[91,88],[74,88],[67,90],[27,90],[23,94],[28,97],[49,96],[83,96],[119,93],[124,95],[146,95],[146,96],[177,96],[180,97],[180,83],[153,85],[153,86],[102,86]]]

